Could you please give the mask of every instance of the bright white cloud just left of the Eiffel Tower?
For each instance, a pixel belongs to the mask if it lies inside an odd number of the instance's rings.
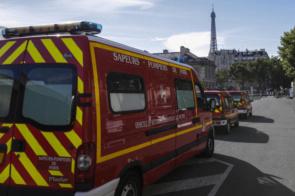
[[[210,49],[210,32],[191,32],[174,35],[164,41],[164,46],[171,52],[179,52],[179,47],[185,46],[199,57],[208,56]]]

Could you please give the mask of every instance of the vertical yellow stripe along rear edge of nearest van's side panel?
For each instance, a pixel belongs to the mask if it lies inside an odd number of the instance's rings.
[[[93,42],[90,42],[90,45]],[[95,44],[94,44],[95,45]],[[98,77],[97,77],[97,68],[96,68],[96,60],[95,60],[95,53],[94,53],[94,47],[90,47],[90,53],[91,53],[91,60],[92,60],[92,69],[93,69],[93,80],[94,80],[94,92],[95,92],[95,106],[96,106],[96,142],[97,144],[100,144],[100,100],[99,100],[99,88],[98,88]],[[99,157],[100,157],[100,145],[96,145],[96,163],[99,163]],[[102,162],[102,161],[100,161]]]

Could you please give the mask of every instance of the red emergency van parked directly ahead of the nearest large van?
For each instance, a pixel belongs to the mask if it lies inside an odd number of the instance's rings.
[[[230,94],[226,91],[205,91],[207,100],[212,98],[216,101],[216,109],[213,111],[212,120],[214,128],[221,128],[225,134],[230,133],[230,125],[239,126],[238,104],[234,101]]]

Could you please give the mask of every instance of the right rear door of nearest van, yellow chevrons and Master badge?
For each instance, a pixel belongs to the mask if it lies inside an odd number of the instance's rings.
[[[91,90],[84,88],[90,84],[83,69],[89,65],[87,37],[33,37],[26,42],[10,122],[10,187],[74,190],[77,149],[91,134],[91,129],[82,134],[91,124],[83,124],[83,116],[91,110],[77,106],[77,94]]]

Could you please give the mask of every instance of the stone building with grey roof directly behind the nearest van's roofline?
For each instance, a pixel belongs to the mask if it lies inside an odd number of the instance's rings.
[[[190,49],[183,46],[180,47],[180,52],[169,52],[168,50],[163,50],[163,53],[154,53],[154,55],[158,55],[174,61],[178,61],[178,58],[183,58],[183,63],[194,68],[201,82],[204,79],[207,87],[209,87],[210,89],[214,88],[215,63],[208,60],[207,57],[198,57],[191,53]]]

